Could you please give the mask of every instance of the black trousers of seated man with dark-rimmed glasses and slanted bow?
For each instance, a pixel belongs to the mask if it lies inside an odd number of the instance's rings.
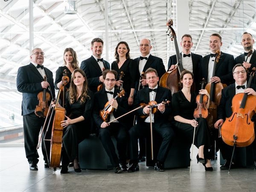
[[[119,158],[117,157],[111,136],[116,138],[116,148]],[[117,166],[119,163],[126,163],[127,131],[124,126],[120,123],[113,122],[106,128],[100,128],[99,140],[101,140],[113,166]]]

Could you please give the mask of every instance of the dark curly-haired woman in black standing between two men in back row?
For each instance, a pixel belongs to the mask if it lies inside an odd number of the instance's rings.
[[[120,87],[122,84],[123,89],[127,93],[128,104],[133,105],[134,102],[134,90],[135,90],[135,74],[136,68],[130,58],[130,49],[125,41],[120,41],[115,49],[116,61],[111,64],[111,70],[116,70],[118,73],[116,86]],[[121,71],[124,73],[122,80],[119,80]]]

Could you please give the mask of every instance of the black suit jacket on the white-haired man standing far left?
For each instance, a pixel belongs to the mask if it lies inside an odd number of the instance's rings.
[[[52,72],[46,67],[44,67],[44,71],[50,84],[52,96],[55,97]],[[32,63],[18,69],[17,90],[22,93],[21,115],[24,116],[35,112],[36,105],[39,103],[38,93],[44,90],[41,86],[42,81],[44,81],[44,78]],[[49,90],[47,89],[47,91]]]

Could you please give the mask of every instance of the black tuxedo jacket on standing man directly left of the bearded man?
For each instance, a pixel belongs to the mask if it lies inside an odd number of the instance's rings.
[[[204,78],[207,81],[208,65],[209,65],[210,59],[211,59],[210,54],[204,56],[201,59],[199,64],[199,74],[198,74],[199,79]],[[232,70],[235,64],[236,63],[233,55],[221,52],[221,57],[215,69],[215,76],[221,79],[221,83],[230,85],[231,83],[235,82],[232,74]]]

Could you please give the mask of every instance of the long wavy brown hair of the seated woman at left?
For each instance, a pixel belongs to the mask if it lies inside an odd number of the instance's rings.
[[[70,89],[69,89],[69,97],[70,97],[70,104],[73,104],[76,101],[76,96],[78,95],[77,91],[76,91],[76,85],[74,84],[74,76],[75,73],[81,73],[81,75],[84,77],[85,81],[83,84],[83,89],[82,89],[82,93],[81,93],[81,103],[84,103],[85,100],[87,99],[87,97],[90,98],[90,96],[88,96],[88,82],[85,76],[85,73],[83,70],[81,69],[76,69],[73,71],[72,75],[71,75],[71,82],[70,82]]]

